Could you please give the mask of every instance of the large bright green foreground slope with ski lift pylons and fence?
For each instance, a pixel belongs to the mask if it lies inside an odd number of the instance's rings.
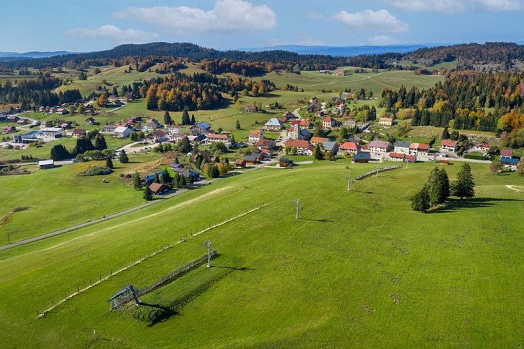
[[[477,198],[431,214],[409,196],[432,164],[381,173],[345,191],[346,161],[267,168],[217,181],[127,216],[0,252],[7,347],[514,347],[523,338],[521,178],[472,164]],[[349,165],[352,175],[373,165]],[[446,167],[451,179],[460,165]],[[407,186],[413,183],[414,186]],[[278,194],[277,194],[278,193]],[[294,219],[292,200],[304,210]],[[266,207],[177,244],[179,237]],[[205,253],[220,255],[109,311]],[[161,245],[174,247],[110,277],[47,315],[36,310]],[[96,329],[98,341],[93,339]]]

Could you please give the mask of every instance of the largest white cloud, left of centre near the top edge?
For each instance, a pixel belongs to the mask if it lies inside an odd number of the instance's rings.
[[[212,10],[187,6],[130,7],[114,17],[131,17],[175,34],[267,31],[276,27],[276,14],[266,5],[244,0],[217,0]]]

